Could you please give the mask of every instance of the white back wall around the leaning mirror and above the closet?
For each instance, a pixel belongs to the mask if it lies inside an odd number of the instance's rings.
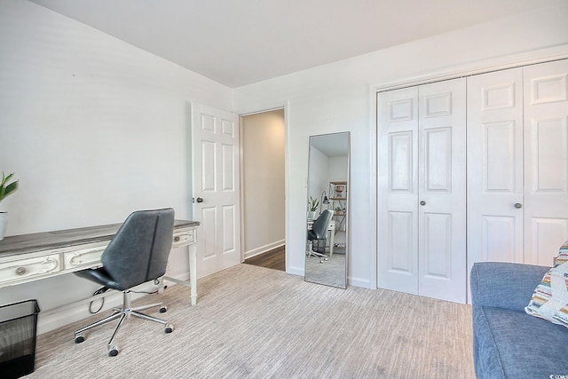
[[[375,85],[412,82],[462,67],[511,63],[528,51],[568,43],[568,4],[255,83],[233,91],[237,112],[288,104],[288,272],[304,273],[308,138],[351,130],[348,277],[376,287]],[[396,33],[396,31],[393,31]],[[441,74],[440,74],[441,75]]]

